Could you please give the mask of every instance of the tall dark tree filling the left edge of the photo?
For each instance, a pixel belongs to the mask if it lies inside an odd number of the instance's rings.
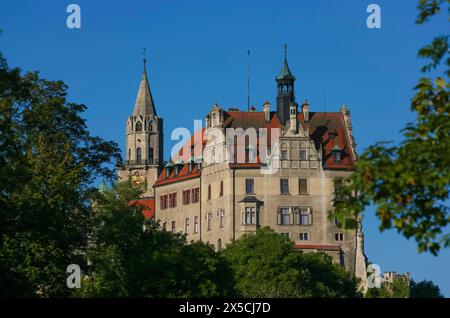
[[[67,86],[21,75],[0,54],[0,284],[9,296],[67,296],[83,260],[97,177],[111,178],[114,142],[92,136]]]

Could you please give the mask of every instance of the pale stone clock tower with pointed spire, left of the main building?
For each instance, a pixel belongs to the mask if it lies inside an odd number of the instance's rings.
[[[144,197],[154,196],[153,184],[163,164],[163,119],[156,114],[148,83],[146,58],[134,105],[127,119],[125,162],[119,167],[119,181],[131,178],[134,184],[145,184]]]

